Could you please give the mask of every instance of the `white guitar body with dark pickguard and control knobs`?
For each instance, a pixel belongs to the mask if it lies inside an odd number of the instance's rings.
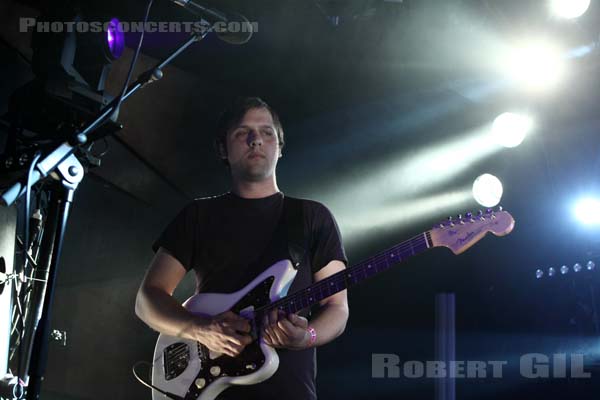
[[[232,310],[252,319],[254,310],[287,295],[296,270],[282,260],[229,294],[200,293],[183,306],[194,314],[213,316]],[[209,352],[193,340],[161,334],[154,349],[152,384],[186,400],[213,400],[232,385],[252,385],[270,378],[279,366],[277,352],[254,341],[236,358]],[[168,397],[152,390],[153,400]]]

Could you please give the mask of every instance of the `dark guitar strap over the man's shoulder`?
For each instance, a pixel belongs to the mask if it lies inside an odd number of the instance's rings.
[[[304,207],[300,199],[283,198],[283,222],[287,231],[288,252],[294,268],[307,261],[308,235],[304,234]]]

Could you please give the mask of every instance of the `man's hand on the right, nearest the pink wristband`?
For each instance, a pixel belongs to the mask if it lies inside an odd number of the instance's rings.
[[[278,349],[302,350],[309,346],[308,320],[297,314],[272,310],[263,319],[262,337],[266,344]]]

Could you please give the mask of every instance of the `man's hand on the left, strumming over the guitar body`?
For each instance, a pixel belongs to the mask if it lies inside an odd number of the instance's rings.
[[[252,343],[250,323],[232,311],[202,319],[196,326],[198,341],[209,350],[235,357]]]

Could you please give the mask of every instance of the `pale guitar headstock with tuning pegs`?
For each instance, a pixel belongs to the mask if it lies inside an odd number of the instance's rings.
[[[497,211],[488,209],[477,214],[466,213],[456,219],[448,218],[431,229],[434,246],[444,246],[454,254],[460,254],[477,243],[486,233],[496,236],[508,235],[515,226],[515,220],[500,207]]]

